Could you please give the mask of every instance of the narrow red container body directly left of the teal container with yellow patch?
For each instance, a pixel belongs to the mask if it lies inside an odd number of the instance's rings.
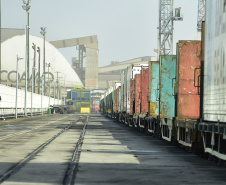
[[[149,69],[141,70],[141,114],[148,113],[148,92],[149,92]]]

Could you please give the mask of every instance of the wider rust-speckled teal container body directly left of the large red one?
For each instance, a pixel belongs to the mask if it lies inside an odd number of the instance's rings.
[[[175,55],[160,56],[160,118],[175,117],[175,92],[173,84],[176,80],[176,58]]]

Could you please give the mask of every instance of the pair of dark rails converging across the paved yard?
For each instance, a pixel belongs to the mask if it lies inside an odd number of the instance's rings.
[[[80,121],[84,124],[79,125],[78,128],[76,128],[76,123]],[[29,153],[24,159],[22,159],[19,163],[11,166],[4,174],[0,176],[0,184],[7,182],[11,177],[13,177],[14,174],[18,173],[22,168],[26,166],[29,162],[31,162],[34,158],[38,158],[39,154],[44,151],[47,147],[49,147],[51,144],[53,144],[53,141],[57,140],[59,137],[62,137],[64,133],[66,133],[69,129],[72,129],[73,127],[80,130],[80,135],[77,139],[75,149],[73,151],[72,157],[70,162],[68,162],[68,167],[65,172],[64,177],[62,178],[62,184],[67,185],[74,182],[74,178],[76,176],[76,170],[78,167],[79,162],[79,156],[80,156],[80,147],[82,146],[82,141],[86,132],[86,127],[88,124],[88,117],[77,118],[75,121],[71,122],[69,125],[63,126],[63,129],[58,132],[56,135],[54,135],[52,138],[41,144],[39,147],[37,147],[35,150],[33,150],[31,153]]]

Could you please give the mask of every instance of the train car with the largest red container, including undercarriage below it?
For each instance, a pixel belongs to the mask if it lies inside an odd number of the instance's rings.
[[[176,127],[177,141],[192,147],[194,126],[200,119],[201,41],[177,44]]]

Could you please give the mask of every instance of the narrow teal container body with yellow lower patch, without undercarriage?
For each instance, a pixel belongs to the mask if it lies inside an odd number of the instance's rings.
[[[159,62],[149,62],[149,116],[159,115]]]

